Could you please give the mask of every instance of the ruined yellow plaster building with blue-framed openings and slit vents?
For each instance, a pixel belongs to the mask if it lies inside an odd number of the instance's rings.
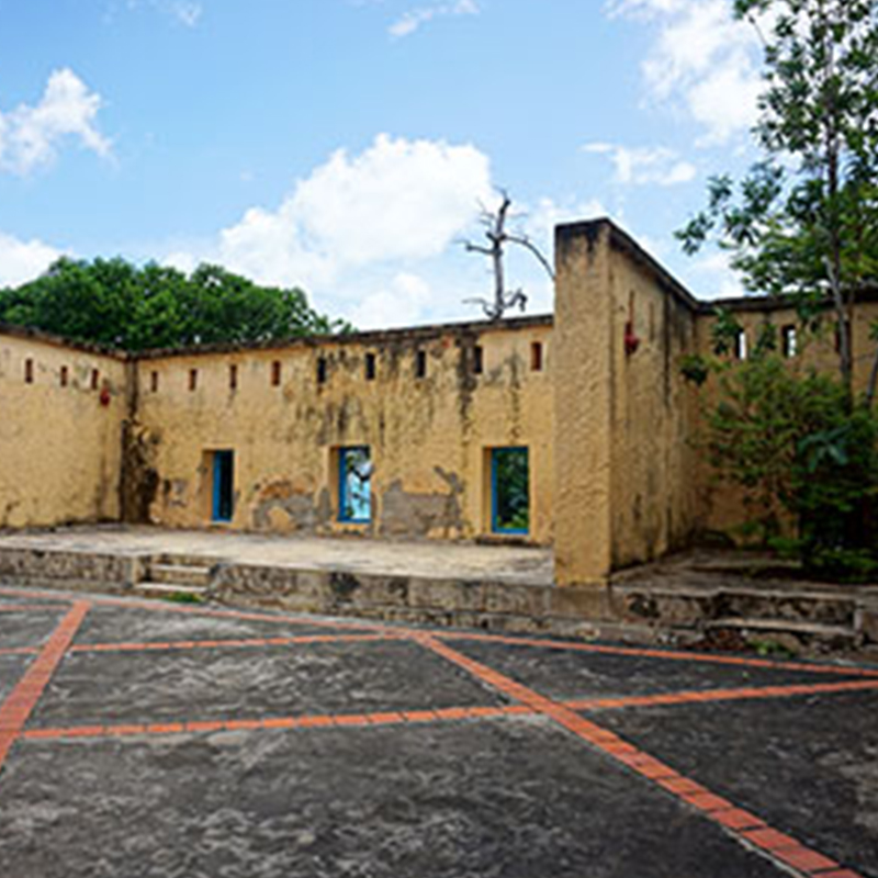
[[[733,524],[679,370],[711,308],[608,221],[560,226],[556,269],[553,315],[500,324],[136,357],[0,327],[0,528],[525,541],[564,586]],[[774,303],[730,307],[751,338],[795,333]]]

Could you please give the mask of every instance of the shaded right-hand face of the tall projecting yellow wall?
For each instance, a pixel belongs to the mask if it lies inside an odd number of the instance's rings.
[[[621,236],[620,240],[621,240]],[[696,311],[637,249],[609,246],[612,569],[652,561],[697,528],[697,397],[679,360],[696,350]],[[631,322],[639,345],[624,346]]]

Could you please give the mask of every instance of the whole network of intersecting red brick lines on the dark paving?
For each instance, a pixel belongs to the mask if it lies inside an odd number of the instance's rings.
[[[0,588],[0,596],[19,596],[21,592]],[[714,795],[691,778],[685,777],[672,766],[635,747],[599,723],[585,719],[577,711],[612,710],[618,708],[650,707],[657,705],[686,705],[693,702],[728,701],[742,699],[778,699],[833,693],[866,691],[878,689],[878,671],[831,664],[802,662],[772,662],[743,656],[712,655],[674,652],[665,650],[583,644],[533,638],[500,637],[465,632],[425,632],[418,629],[376,626],[360,621],[338,621],[311,616],[269,615],[235,610],[213,610],[194,607],[158,605],[153,601],[120,598],[90,597],[59,604],[57,593],[27,592],[29,598],[53,601],[53,604],[7,604],[0,612],[45,612],[69,606],[54,632],[42,648],[0,649],[0,655],[35,655],[21,680],[0,703],[0,795],[2,795],[2,767],[16,740],[52,741],[76,738],[124,738],[126,735],[161,735],[237,730],[302,730],[302,729],[357,729],[396,723],[417,724],[435,722],[460,722],[498,719],[509,716],[542,716],[576,735],[607,758],[624,766],[633,777],[657,786],[687,807],[699,811],[708,820],[721,826],[744,846],[762,853],[787,874],[813,878],[862,878],[858,873],[843,868],[830,857],[814,851],[790,835],[769,826],[759,817],[738,808],[733,802]],[[192,614],[209,618],[236,619],[243,621],[269,621],[275,623],[306,623],[309,627],[326,627],[358,633],[326,633],[279,638],[244,638],[225,640],[189,640],[144,643],[93,643],[72,644],[74,638],[92,605],[123,606],[156,612]],[[228,718],[211,721],[149,722],[126,724],[93,724],[70,728],[26,729],[27,720],[36,707],[53,674],[67,653],[113,653],[145,651],[188,651],[216,649],[248,649],[264,646],[289,646],[313,643],[369,643],[389,640],[405,640],[419,644],[462,668],[481,683],[513,699],[508,706],[459,707],[443,709],[373,711],[368,713],[331,713],[270,719]],[[858,676],[863,679],[846,679],[835,683],[797,684],[789,686],[762,686],[746,688],[707,689],[694,691],[662,693],[657,695],[627,696],[618,698],[588,698],[558,701],[516,682],[488,665],[477,662],[450,643],[454,641],[487,641],[522,648],[572,650],[608,655],[628,655],[677,662],[707,662],[720,665],[788,669],[822,675]]]

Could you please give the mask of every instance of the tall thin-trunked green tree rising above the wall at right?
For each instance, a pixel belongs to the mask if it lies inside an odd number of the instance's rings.
[[[707,207],[677,235],[689,254],[718,240],[745,286],[788,297],[803,326],[829,302],[852,397],[853,304],[878,280],[878,0],[734,0],[734,10],[763,38],[763,158],[738,183],[712,178]]]

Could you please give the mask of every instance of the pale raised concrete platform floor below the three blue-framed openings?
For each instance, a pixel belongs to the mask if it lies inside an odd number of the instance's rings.
[[[83,526],[54,531],[0,533],[0,550],[171,554],[239,564],[346,571],[350,573],[491,579],[551,585],[551,549],[472,545],[439,541],[300,537],[228,530],[168,530],[157,527]]]

